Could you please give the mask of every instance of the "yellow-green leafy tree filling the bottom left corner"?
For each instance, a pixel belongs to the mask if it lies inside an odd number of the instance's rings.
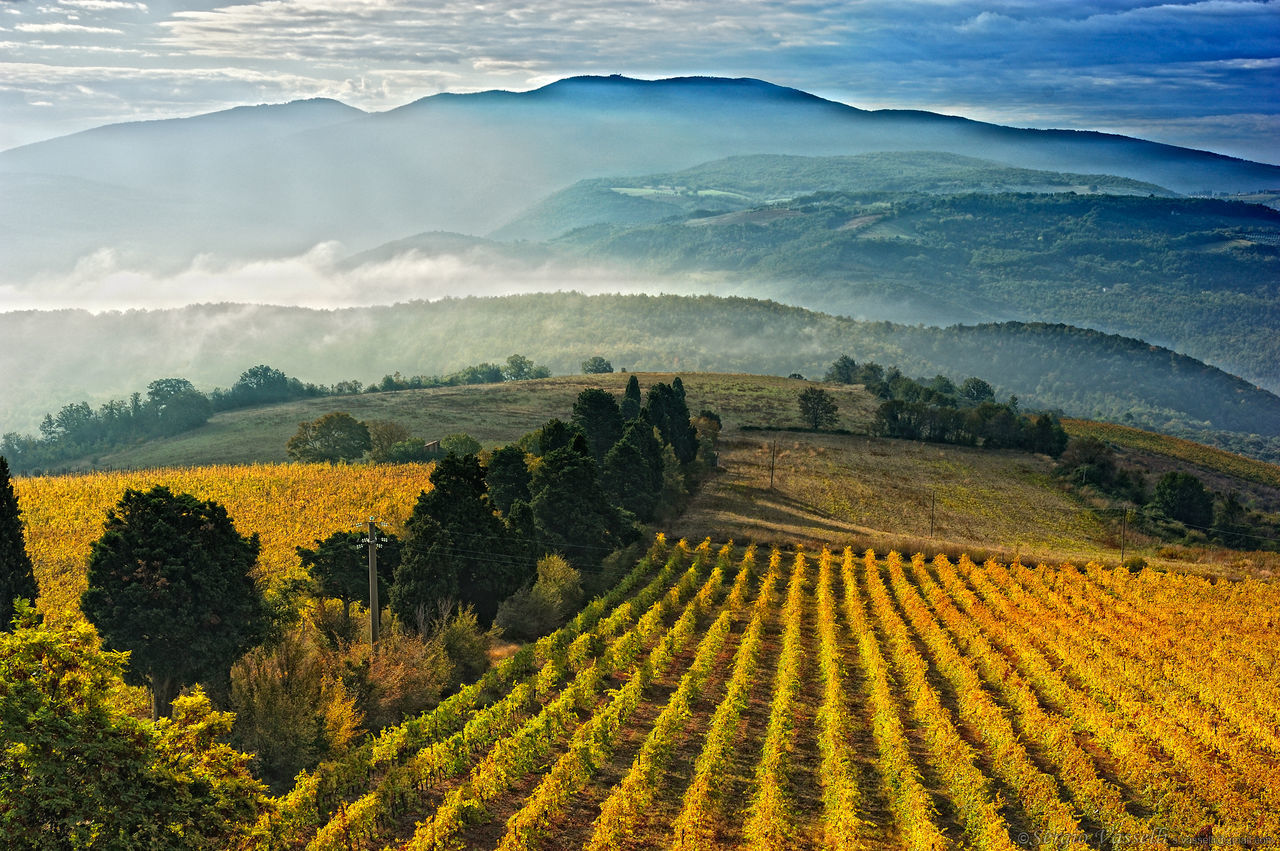
[[[198,692],[150,724],[120,709],[122,653],[87,624],[61,630],[23,604],[0,635],[0,836],[4,847],[225,848],[266,790],[220,744],[229,713]]]

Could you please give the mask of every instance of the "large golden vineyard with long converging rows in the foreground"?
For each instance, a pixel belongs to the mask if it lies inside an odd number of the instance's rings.
[[[658,537],[261,848],[1176,847],[1280,837],[1280,587]]]

